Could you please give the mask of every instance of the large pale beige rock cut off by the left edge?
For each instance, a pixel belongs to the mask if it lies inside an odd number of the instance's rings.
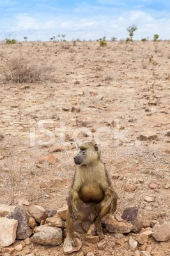
[[[0,246],[10,246],[15,242],[17,226],[17,220],[0,218]]]

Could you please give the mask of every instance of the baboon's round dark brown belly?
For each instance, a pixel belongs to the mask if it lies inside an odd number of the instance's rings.
[[[79,191],[84,203],[98,203],[104,198],[104,191],[97,182],[84,183]]]

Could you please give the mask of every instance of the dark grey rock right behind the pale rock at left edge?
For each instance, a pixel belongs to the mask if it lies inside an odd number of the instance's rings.
[[[30,237],[32,230],[28,225],[28,216],[24,205],[18,204],[7,216],[8,219],[14,219],[18,221],[17,227],[17,239],[24,240]]]

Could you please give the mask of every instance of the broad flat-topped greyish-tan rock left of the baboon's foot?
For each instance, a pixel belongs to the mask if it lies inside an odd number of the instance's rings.
[[[62,230],[49,226],[39,226],[32,237],[35,244],[59,245],[62,243]]]

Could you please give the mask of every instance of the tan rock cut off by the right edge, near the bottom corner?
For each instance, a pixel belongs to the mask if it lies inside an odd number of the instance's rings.
[[[162,225],[157,223],[153,228],[153,237],[159,242],[170,239],[170,221],[164,221]]]

